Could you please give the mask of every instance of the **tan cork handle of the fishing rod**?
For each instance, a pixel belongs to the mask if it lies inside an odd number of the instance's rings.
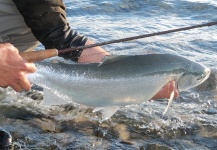
[[[39,50],[39,51],[32,51],[32,52],[21,52],[19,54],[28,62],[36,62],[36,61],[58,56],[58,50],[46,49],[46,50]]]

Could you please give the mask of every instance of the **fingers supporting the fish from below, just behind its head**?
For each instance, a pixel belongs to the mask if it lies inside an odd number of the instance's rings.
[[[170,81],[167,83],[157,94],[155,94],[151,99],[156,100],[156,99],[162,99],[162,98],[170,98],[170,94],[174,91],[174,98],[178,97],[179,92],[175,88],[175,82]]]

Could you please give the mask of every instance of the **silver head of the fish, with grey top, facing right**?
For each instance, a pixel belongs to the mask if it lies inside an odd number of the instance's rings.
[[[185,72],[177,82],[179,91],[187,91],[201,83],[203,83],[210,75],[210,69],[202,64],[191,62]]]

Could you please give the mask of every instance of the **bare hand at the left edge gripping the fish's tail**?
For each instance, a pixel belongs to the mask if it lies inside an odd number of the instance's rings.
[[[35,70],[35,65],[23,59],[12,44],[0,44],[0,87],[11,86],[17,92],[29,90],[26,75]]]

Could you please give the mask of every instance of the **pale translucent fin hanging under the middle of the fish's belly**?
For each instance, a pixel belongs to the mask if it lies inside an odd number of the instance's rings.
[[[118,106],[107,106],[107,107],[96,107],[93,112],[101,111],[102,113],[102,120],[105,121],[109,118],[111,118],[116,111],[119,109]]]

